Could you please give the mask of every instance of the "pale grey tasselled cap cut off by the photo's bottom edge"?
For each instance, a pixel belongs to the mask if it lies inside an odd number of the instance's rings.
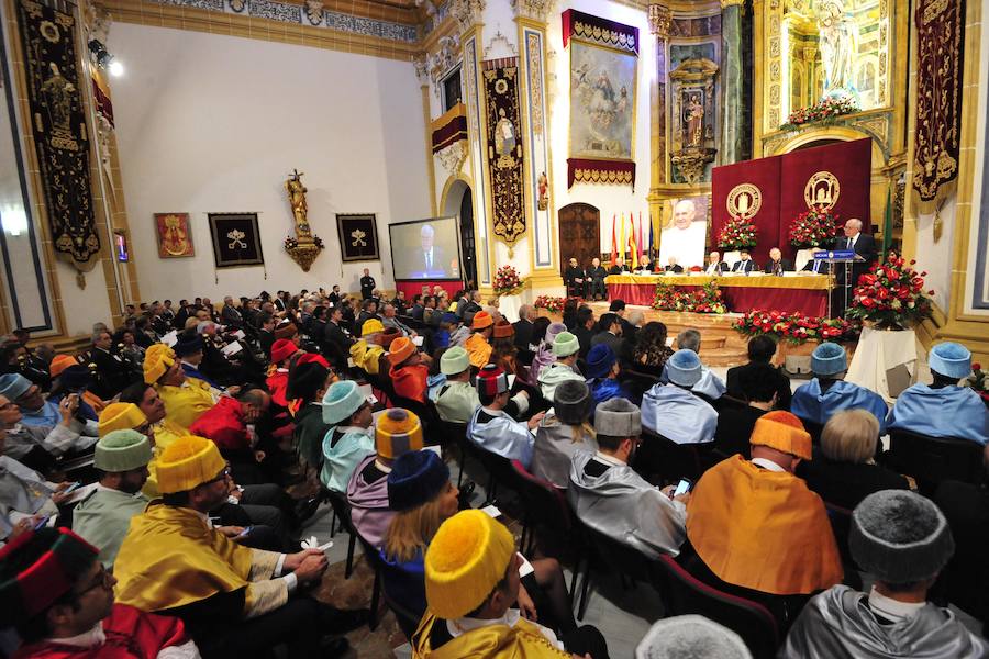
[[[653,624],[635,659],[752,659],[742,637],[702,615],[678,615]]]

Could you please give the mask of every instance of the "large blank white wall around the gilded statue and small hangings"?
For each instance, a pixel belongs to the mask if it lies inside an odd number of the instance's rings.
[[[411,63],[114,24],[113,80],[132,254],[145,300],[393,286],[388,224],[430,215],[425,132]],[[326,249],[302,272],[282,247],[282,183],[305,174],[309,221]],[[216,270],[207,213],[258,212],[262,267]],[[188,212],[193,258],[160,259],[154,213]],[[380,261],[344,265],[336,213],[376,213]],[[384,268],[382,268],[384,265]]]

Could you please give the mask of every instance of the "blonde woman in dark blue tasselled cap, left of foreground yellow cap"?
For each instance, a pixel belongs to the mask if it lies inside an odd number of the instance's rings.
[[[381,557],[385,592],[415,616],[426,610],[423,557],[440,525],[457,513],[459,491],[449,469],[432,450],[400,456],[388,474],[388,505],[396,513],[385,536]],[[532,561],[534,572],[522,577],[519,608],[530,619],[566,633],[577,628],[559,563],[553,558]]]

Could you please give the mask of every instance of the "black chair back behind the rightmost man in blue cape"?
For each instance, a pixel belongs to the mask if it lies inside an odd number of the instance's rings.
[[[900,428],[890,428],[887,461],[900,473],[916,479],[925,492],[933,492],[945,480],[982,482],[982,446],[976,442],[930,437]]]

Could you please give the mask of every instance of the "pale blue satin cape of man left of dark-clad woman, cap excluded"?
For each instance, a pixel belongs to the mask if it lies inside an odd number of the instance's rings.
[[[686,389],[656,384],[642,396],[642,425],[676,444],[713,442],[718,412]]]

